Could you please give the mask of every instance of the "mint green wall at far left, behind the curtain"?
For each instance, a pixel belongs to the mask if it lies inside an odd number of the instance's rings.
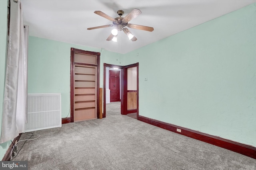
[[[4,100],[4,81],[6,63],[6,35],[7,35],[7,0],[0,0],[0,133],[2,127],[2,111]],[[10,141],[0,144],[0,160],[10,146]]]

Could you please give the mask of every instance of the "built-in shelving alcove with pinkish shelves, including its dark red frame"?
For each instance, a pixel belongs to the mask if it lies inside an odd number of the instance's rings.
[[[71,122],[99,117],[100,53],[71,48]]]

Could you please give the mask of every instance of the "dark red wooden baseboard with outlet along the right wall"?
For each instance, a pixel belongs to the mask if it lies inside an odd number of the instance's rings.
[[[194,131],[192,129],[172,125],[170,123],[165,123],[162,121],[158,121],[155,119],[150,119],[148,117],[140,116],[138,117],[138,120],[143,121],[145,123],[149,123],[151,125],[166,129],[168,131],[172,131],[175,133],[179,133],[181,135],[185,135],[187,137],[191,137],[206,143],[210,143],[212,145],[216,145],[218,147],[222,147],[228,150],[232,150],[234,152],[238,152],[240,154],[249,156],[251,158],[256,159],[256,147],[250,146],[250,145],[245,145],[242,143],[230,141],[228,139],[224,139],[221,137],[213,136],[213,135],[208,135],[206,133],[202,133],[199,131]],[[181,132],[178,132],[177,129],[181,129]]]

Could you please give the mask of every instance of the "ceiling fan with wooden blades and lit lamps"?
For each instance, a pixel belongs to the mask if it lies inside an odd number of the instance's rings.
[[[129,28],[140,29],[144,31],[154,30],[153,27],[147,27],[143,25],[128,23],[130,20],[132,20],[133,18],[136,18],[138,15],[141,14],[141,11],[136,8],[132,10],[129,14],[127,14],[127,16],[125,16],[124,18],[122,17],[122,15],[124,14],[123,10],[117,11],[117,14],[119,15],[119,17],[117,18],[112,18],[101,11],[94,11],[94,13],[113,22],[113,24],[109,24],[109,25],[102,25],[98,27],[87,28],[88,30],[91,30],[91,29],[98,29],[98,28],[105,28],[105,27],[115,27],[114,29],[112,29],[111,34],[107,38],[107,41],[110,41],[110,40],[117,41],[118,31],[124,31],[124,33],[126,33],[126,35],[129,37],[130,40],[136,41],[137,38],[134,37],[134,35],[130,32],[128,28],[126,28],[126,26]]]

